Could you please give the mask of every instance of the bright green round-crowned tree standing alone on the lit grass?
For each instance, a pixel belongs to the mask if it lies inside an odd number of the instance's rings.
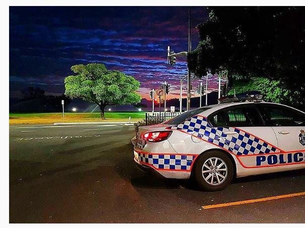
[[[133,104],[141,101],[136,93],[140,82],[117,70],[107,70],[105,65],[91,63],[74,65],[75,75],[65,78],[65,94],[94,102],[100,107],[101,119],[105,119],[106,105]]]

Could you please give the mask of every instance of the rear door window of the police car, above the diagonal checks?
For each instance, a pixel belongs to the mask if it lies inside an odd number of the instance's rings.
[[[224,111],[228,127],[260,127],[264,126],[255,107],[235,107]]]

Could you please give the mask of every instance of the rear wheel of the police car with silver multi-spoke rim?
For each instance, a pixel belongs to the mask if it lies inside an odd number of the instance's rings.
[[[194,174],[200,188],[206,191],[219,191],[230,184],[233,179],[234,168],[226,154],[220,151],[208,151],[198,158]]]

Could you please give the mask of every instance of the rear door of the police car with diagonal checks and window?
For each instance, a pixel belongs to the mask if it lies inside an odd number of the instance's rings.
[[[277,140],[271,127],[264,126],[263,119],[252,104],[238,104],[224,108],[222,113],[226,127],[221,130],[222,138],[244,168],[277,166]],[[216,114],[211,116],[211,125]],[[218,132],[219,132],[218,131]],[[270,156],[270,158],[268,158]]]

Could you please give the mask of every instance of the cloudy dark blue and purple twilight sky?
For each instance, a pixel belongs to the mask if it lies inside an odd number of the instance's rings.
[[[195,27],[208,15],[205,7],[191,12],[194,49]],[[93,62],[134,76],[142,97],[163,81],[172,85],[169,98],[177,97],[186,58],[167,65],[168,45],[188,50],[188,7],[10,7],[10,97],[28,86],[63,94],[71,66]],[[215,78],[210,84],[217,88]]]

